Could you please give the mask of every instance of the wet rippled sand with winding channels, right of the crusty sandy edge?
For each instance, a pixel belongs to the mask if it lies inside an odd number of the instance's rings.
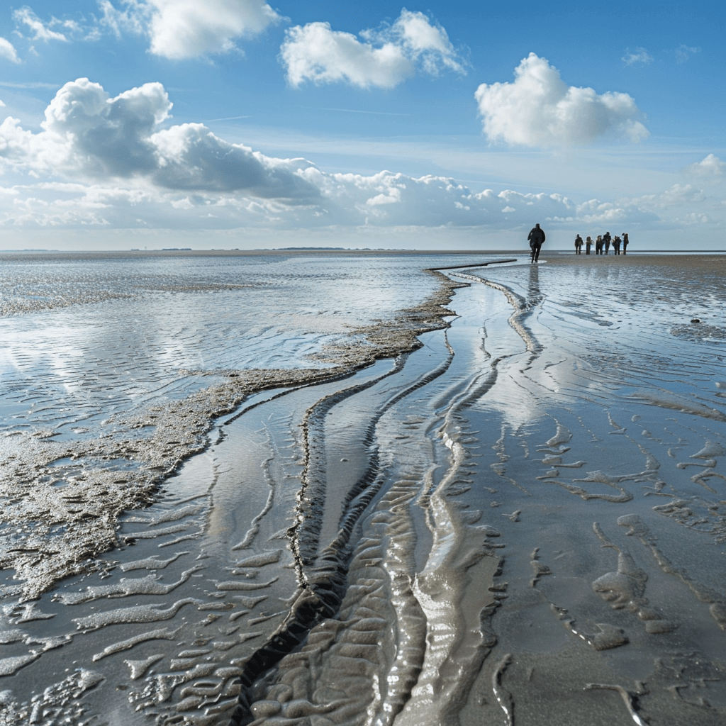
[[[230,407],[7,599],[5,722],[723,723],[725,260],[542,258]]]

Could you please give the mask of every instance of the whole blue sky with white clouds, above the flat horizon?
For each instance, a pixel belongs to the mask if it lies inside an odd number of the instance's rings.
[[[721,4],[0,7],[0,250],[726,248]]]

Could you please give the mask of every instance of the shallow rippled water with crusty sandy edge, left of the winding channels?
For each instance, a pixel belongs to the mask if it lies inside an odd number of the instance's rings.
[[[12,527],[0,565],[24,581],[7,592],[35,596],[85,569],[115,542],[118,513],[153,501],[205,448],[213,416],[250,391],[340,375],[439,325],[399,313],[441,287],[410,259],[4,256],[0,497]]]

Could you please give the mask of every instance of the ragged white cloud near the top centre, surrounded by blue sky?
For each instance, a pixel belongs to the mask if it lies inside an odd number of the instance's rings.
[[[360,88],[393,88],[417,69],[431,76],[441,70],[464,73],[446,30],[422,12],[401,10],[398,20],[379,30],[363,30],[360,41],[333,30],[330,23],[295,25],[285,33],[280,60],[287,81],[343,81]]]

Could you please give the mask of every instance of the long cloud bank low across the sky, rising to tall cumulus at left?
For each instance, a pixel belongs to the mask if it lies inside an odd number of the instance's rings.
[[[221,139],[202,123],[171,124],[161,83],[110,97],[87,78],[48,105],[41,131],[0,124],[0,168],[20,178],[0,187],[0,224],[10,227],[274,229],[483,227],[534,221],[568,225],[710,221],[709,197],[690,184],[637,199],[587,200],[511,189],[474,191],[444,176],[391,171],[327,173],[303,158],[274,158]],[[693,175],[723,176],[708,155]],[[720,178],[720,177],[719,177]]]

